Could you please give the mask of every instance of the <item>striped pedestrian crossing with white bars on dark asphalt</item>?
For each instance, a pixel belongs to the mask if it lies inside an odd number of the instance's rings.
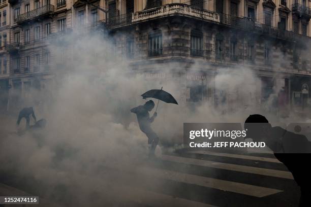
[[[261,154],[164,153],[136,165],[105,163],[99,171],[102,174],[92,179],[72,176],[99,186],[110,198],[119,196],[112,201],[118,200],[120,206],[286,207],[297,206],[299,200],[299,189],[291,173],[277,159]],[[113,178],[103,179],[104,175]]]

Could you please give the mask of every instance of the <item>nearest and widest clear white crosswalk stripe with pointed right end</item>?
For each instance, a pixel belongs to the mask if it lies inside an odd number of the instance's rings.
[[[249,184],[225,181],[220,179],[184,174],[171,170],[157,169],[151,167],[139,168],[139,171],[149,176],[154,176],[162,179],[169,179],[177,182],[188,184],[195,184],[199,186],[240,193],[244,195],[251,195],[255,197],[264,197],[275,193],[282,192],[282,190],[254,186]]]

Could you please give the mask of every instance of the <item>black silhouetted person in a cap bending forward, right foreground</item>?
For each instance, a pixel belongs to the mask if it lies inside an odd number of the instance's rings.
[[[274,156],[292,172],[300,186],[299,206],[311,206],[311,143],[304,135],[295,134],[281,127],[271,127],[268,120],[259,114],[250,115],[244,124],[246,136],[254,142],[265,142]]]

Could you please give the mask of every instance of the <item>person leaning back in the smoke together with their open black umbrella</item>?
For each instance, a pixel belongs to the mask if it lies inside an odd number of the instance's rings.
[[[154,157],[155,148],[159,143],[158,135],[151,129],[151,123],[154,118],[157,117],[157,110],[159,105],[159,100],[162,100],[167,103],[175,103],[178,105],[175,98],[168,92],[159,89],[152,89],[141,95],[144,99],[146,98],[155,98],[158,99],[157,109],[151,118],[149,118],[149,112],[154,108],[154,102],[152,100],[148,100],[143,106],[138,106],[131,109],[132,113],[135,113],[137,116],[138,124],[140,130],[144,132],[148,137],[148,148],[149,148],[149,158]]]

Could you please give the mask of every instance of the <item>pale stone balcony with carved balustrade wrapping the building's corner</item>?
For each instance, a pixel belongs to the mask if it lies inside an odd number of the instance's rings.
[[[135,12],[133,13],[132,22],[146,21],[152,18],[172,15],[196,17],[204,20],[219,22],[219,14],[215,12],[180,3],[167,4],[162,7]]]

